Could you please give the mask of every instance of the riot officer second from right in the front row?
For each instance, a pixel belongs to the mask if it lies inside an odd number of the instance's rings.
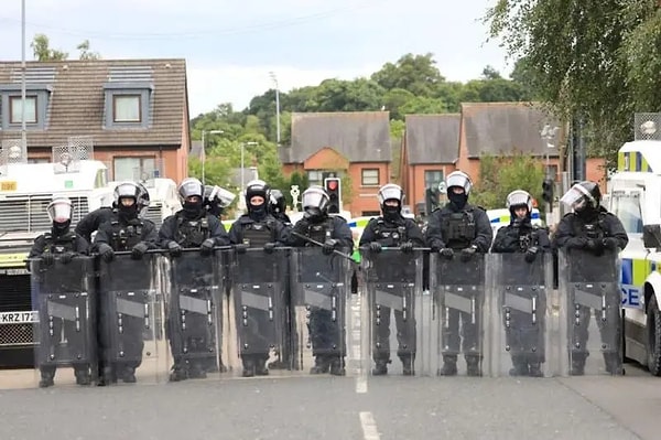
[[[551,249],[546,229],[533,226],[531,221],[532,196],[523,190],[516,190],[508,194],[506,206],[510,212],[510,224],[498,229],[491,251],[495,254],[523,253],[524,261],[532,264],[539,254]],[[512,269],[516,273],[516,269]],[[542,308],[543,310],[543,308]],[[510,311],[511,331],[506,333],[506,343],[512,351],[511,376],[541,377],[541,364],[545,362],[544,351],[537,346],[538,339],[534,332],[525,332],[523,328],[530,322],[530,314],[519,310]],[[507,329],[506,329],[507,330]],[[535,350],[532,350],[535,348]]]

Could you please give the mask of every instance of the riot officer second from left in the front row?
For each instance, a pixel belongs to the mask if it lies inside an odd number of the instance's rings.
[[[110,219],[101,224],[94,239],[93,250],[106,262],[115,259],[115,251],[131,251],[131,258],[141,259],[149,249],[158,248],[159,234],[153,222],[147,218],[140,218],[143,213],[143,203],[149,194],[147,190],[134,182],[123,182],[115,187],[115,206]],[[101,309],[101,308],[99,308]],[[104,315],[104,311],[100,311]],[[108,324],[101,323],[101,325]],[[110,367],[113,374],[126,383],[136,382],[136,368],[141,364],[142,350],[144,342],[142,340],[142,328],[132,328],[132,324],[124,323],[123,335],[126,339],[132,339],[131,352],[140,358],[137,362],[116,363]],[[101,341],[106,346],[108,341]],[[104,366],[101,366],[104,367]]]

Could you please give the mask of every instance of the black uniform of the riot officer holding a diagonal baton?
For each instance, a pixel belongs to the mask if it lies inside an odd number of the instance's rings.
[[[317,243],[326,244],[333,251],[340,248],[350,254],[354,249],[354,237],[347,222],[339,216],[304,216],[294,225],[293,230],[304,237]],[[293,247],[316,246],[311,242],[292,234],[290,245]],[[333,320],[329,310],[312,308],[308,321],[308,334],[312,342],[312,354],[315,356],[315,366],[311,373],[319,374],[330,372],[334,375],[343,375],[344,369],[344,344],[339,350],[334,347],[336,341],[344,339],[344,323]]]

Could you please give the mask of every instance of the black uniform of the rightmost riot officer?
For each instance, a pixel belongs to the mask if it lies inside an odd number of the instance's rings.
[[[581,258],[582,253],[589,253],[594,256],[603,256],[617,253],[617,249],[624,249],[629,243],[629,237],[619,218],[608,213],[604,207],[587,208],[581,213],[566,214],[557,224],[557,229],[553,237],[553,247],[560,249],[575,249],[568,258]],[[617,258],[615,255],[613,258]],[[589,281],[590,279],[600,279],[604,267],[586,267],[586,265],[571,265],[567,270],[581,270],[582,277]],[[594,278],[593,278],[594,277]],[[619,304],[618,304],[619,305]],[[619,307],[615,308],[619,313]],[[590,310],[581,305],[576,311],[582,316],[581,323],[576,325],[574,334],[576,341],[572,343],[572,374],[583,374],[585,361],[588,356],[586,343],[588,337],[588,326]],[[615,315],[611,319],[617,319]],[[597,321],[602,341],[613,341],[614,335],[607,334],[609,328]],[[576,345],[578,343],[578,346]],[[617,373],[611,365],[618,364],[615,361],[619,353],[604,352],[606,367],[610,373]]]

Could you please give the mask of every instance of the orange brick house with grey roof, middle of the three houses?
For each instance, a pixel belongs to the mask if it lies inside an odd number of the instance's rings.
[[[291,146],[280,149],[284,173],[304,173],[310,184],[323,184],[325,176],[336,173],[344,178],[344,210],[353,216],[378,215],[377,192],[391,175],[389,116],[388,111],[292,114]]]

